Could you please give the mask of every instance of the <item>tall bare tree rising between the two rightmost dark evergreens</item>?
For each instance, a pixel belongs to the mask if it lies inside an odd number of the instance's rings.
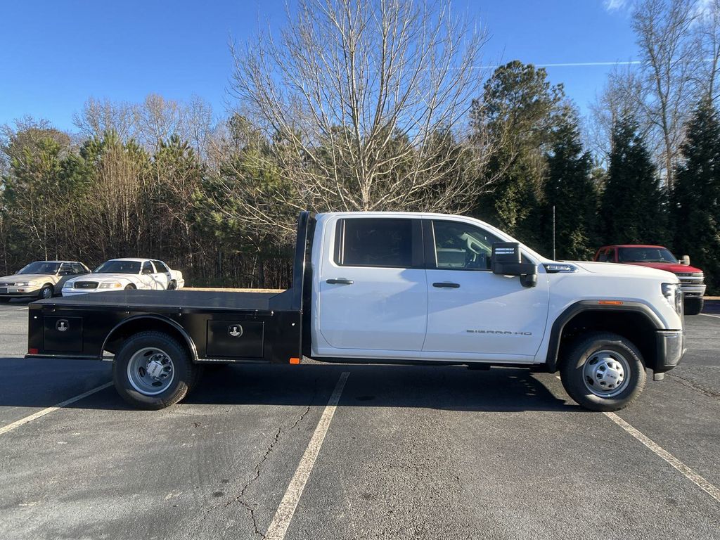
[[[660,169],[672,186],[683,125],[696,96],[693,71],[698,68],[691,30],[698,12],[693,0],[642,0],[633,14],[646,80],[647,117],[660,133]]]

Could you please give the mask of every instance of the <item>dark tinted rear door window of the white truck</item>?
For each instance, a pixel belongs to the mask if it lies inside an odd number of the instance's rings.
[[[356,218],[338,222],[335,262],[341,266],[413,266],[413,221]]]

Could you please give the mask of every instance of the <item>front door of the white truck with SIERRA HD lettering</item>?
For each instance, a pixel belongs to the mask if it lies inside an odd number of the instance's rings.
[[[532,361],[544,336],[549,287],[490,271],[492,233],[464,221],[424,220],[428,331],[423,351],[446,358]]]

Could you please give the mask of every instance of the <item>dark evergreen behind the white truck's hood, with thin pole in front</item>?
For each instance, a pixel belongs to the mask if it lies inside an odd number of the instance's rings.
[[[546,156],[544,184],[544,231],[539,248],[552,255],[552,207],[555,207],[556,257],[582,260],[597,248],[595,216],[597,192],[591,177],[589,152],[582,151],[580,129],[575,112],[570,112],[554,132],[552,150]]]

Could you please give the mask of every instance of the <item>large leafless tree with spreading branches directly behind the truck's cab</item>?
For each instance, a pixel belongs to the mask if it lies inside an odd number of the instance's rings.
[[[300,0],[279,37],[233,46],[230,91],[268,143],[258,166],[276,170],[292,193],[267,193],[261,207],[248,197],[247,219],[274,222],[272,204],[459,210],[474,202],[477,175],[459,169],[487,158],[467,123],[485,40],[444,1]],[[230,196],[237,190],[225,185]]]

